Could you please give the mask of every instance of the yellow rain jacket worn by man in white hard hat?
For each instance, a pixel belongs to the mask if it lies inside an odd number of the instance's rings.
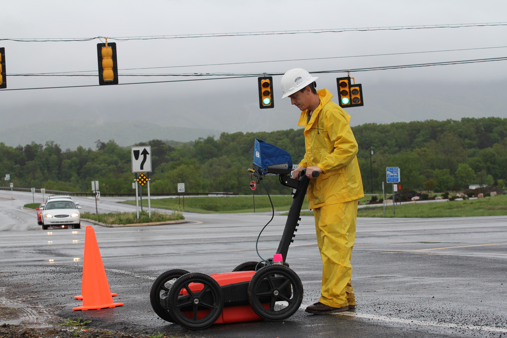
[[[320,105],[308,120],[308,110],[301,112],[299,126],[305,127],[305,157],[300,166],[318,166],[319,177],[310,180],[310,209],[344,203],[364,196],[363,180],[357,163],[357,142],[350,129],[350,115],[331,101],[327,89],[317,90]]]

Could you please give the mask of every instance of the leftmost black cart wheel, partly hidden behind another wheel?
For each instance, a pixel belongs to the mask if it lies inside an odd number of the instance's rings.
[[[163,320],[170,323],[176,322],[172,319],[167,308],[167,297],[174,282],[188,273],[187,270],[172,269],[160,275],[155,282],[153,282],[152,289],[150,290],[150,302],[153,311]]]

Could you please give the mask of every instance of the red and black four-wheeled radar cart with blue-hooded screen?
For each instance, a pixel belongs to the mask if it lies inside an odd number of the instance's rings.
[[[213,275],[183,269],[166,271],[155,280],[150,292],[152,308],[160,318],[195,330],[214,323],[283,320],[299,309],[303,284],[285,260],[298,231],[310,180],[306,177],[306,169],[301,172],[299,180],[293,179],[290,175],[292,168],[289,153],[263,140],[255,140],[253,169],[249,172],[256,176],[257,183],[262,183],[264,176],[277,175],[282,185],[294,189],[291,209],[274,255],[281,255],[281,260],[248,261],[236,266],[232,272]],[[314,177],[318,175],[313,172]]]

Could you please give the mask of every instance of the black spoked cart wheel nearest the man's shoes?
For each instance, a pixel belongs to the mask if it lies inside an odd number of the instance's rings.
[[[248,284],[248,301],[259,317],[283,320],[298,311],[303,301],[303,283],[290,268],[273,264],[259,269]],[[269,309],[263,303],[269,304]]]

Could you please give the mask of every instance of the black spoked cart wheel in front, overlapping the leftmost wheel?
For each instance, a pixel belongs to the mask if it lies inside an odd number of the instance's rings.
[[[192,292],[190,283],[202,284],[203,287],[201,291]],[[194,289],[195,287],[196,285],[193,286]],[[211,326],[220,317],[224,308],[224,295],[214,279],[208,275],[191,273],[174,282],[169,291],[168,305],[171,317],[179,325],[198,330]]]

